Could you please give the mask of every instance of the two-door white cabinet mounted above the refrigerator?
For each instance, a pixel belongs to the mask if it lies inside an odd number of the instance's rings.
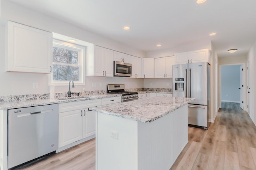
[[[176,58],[176,64],[210,62],[209,49],[177,53],[174,56]]]

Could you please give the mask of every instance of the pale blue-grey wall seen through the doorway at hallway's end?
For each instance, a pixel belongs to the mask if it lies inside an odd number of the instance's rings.
[[[240,66],[221,66],[221,100],[222,102],[240,103]]]

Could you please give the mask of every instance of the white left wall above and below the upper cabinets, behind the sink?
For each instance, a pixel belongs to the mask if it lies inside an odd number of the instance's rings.
[[[124,52],[137,57],[146,57],[146,53],[138,49],[134,49],[107,39],[95,33],[76,27],[64,21],[40,14],[36,11],[24,8],[8,0],[2,0],[0,6],[0,24],[5,20],[11,20],[39,29],[50,32],[59,33],[82,41],[100,45],[109,49]],[[4,43],[5,27],[0,25],[0,96],[19,95],[19,94],[43,94],[49,93],[48,74],[37,73],[20,73],[20,72],[4,72]],[[38,89],[33,89],[33,82],[38,83]],[[92,82],[96,85],[92,86]],[[100,86],[100,82],[103,82]],[[143,86],[143,79],[130,78],[103,78],[103,77],[87,77],[85,86],[76,86],[73,91],[82,91],[82,88],[87,90],[106,90],[106,84],[124,83],[126,88],[141,88]],[[67,86],[55,86],[55,92],[67,92]]]

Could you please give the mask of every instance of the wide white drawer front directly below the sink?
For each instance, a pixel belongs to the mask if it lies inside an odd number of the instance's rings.
[[[65,111],[84,109],[87,107],[95,107],[95,106],[100,106],[100,105],[101,105],[100,99],[61,103],[61,104],[59,104],[59,113],[65,112]]]

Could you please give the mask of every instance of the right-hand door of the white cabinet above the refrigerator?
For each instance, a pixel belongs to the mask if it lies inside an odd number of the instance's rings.
[[[191,51],[190,53],[190,63],[201,63],[209,62],[209,49],[202,49],[197,51]]]

